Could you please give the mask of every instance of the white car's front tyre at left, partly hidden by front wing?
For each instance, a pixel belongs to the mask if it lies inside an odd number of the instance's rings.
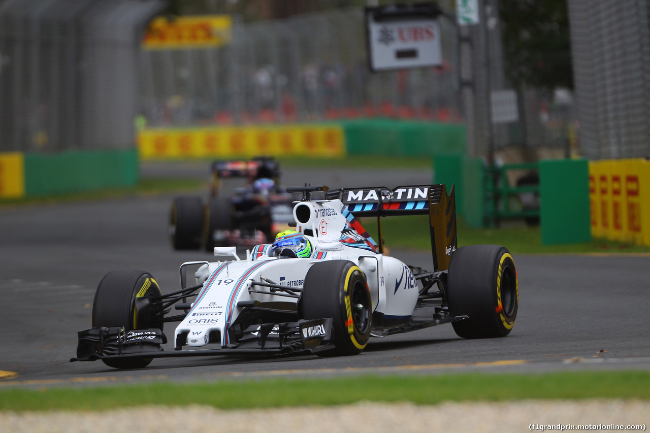
[[[148,272],[142,270],[114,270],[101,280],[92,304],[92,327],[123,326],[125,331],[134,329],[159,328],[162,331],[163,322],[151,310],[144,322],[137,322],[135,298],[141,296],[160,296],[161,289],[156,280]],[[142,317],[140,317],[142,320]],[[140,369],[151,362],[145,359],[109,359],[102,360],[109,367],[116,369]]]

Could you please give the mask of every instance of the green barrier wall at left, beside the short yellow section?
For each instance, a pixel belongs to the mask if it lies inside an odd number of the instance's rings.
[[[27,196],[129,187],[137,181],[135,148],[25,154]]]

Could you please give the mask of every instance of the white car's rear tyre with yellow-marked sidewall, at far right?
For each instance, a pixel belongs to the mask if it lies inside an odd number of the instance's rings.
[[[519,306],[517,269],[510,252],[499,245],[468,245],[451,257],[447,274],[450,314],[469,319],[453,322],[463,338],[505,337]]]

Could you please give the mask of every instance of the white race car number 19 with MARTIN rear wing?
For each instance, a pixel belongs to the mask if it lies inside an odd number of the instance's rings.
[[[512,330],[513,258],[498,245],[457,248],[453,187],[449,194],[445,185],[287,190],[302,193],[292,209],[295,230],[245,259],[235,247],[216,247],[214,262],[183,263],[176,291],[163,295],[148,272],[109,272],[71,361],[140,368],[162,357],[353,355],[370,337],[444,323],[465,338]],[[312,199],[315,192],[323,199]],[[382,217],[418,214],[428,215],[430,270],[383,254],[383,241],[357,220],[376,217],[382,239]],[[189,287],[188,270],[196,279]],[[179,322],[170,332],[174,350],[163,350],[169,322]]]

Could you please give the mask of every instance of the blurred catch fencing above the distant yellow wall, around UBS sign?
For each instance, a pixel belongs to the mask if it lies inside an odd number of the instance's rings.
[[[454,23],[442,68],[370,73],[363,10],[241,23],[229,44],[142,53],[151,127],[305,122],[361,116],[460,121]]]

